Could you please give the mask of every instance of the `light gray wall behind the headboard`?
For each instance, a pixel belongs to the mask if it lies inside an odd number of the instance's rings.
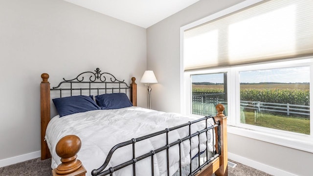
[[[146,29],[63,0],[0,0],[0,161],[40,151],[40,75],[146,70]],[[146,87],[138,84],[138,106]]]

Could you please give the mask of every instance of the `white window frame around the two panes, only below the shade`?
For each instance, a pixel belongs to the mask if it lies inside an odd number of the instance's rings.
[[[274,128],[262,126],[253,126],[240,123],[240,81],[239,73],[241,71],[253,71],[264,69],[278,69],[290,67],[310,67],[310,75],[313,75],[313,58],[297,58],[293,60],[272,61],[259,64],[249,64],[221,69],[206,69],[197,71],[186,71],[184,75],[185,94],[181,99],[184,102],[183,114],[201,117],[191,114],[191,75],[215,74],[227,72],[227,111],[228,111],[228,129],[227,132],[262,140],[294,149],[313,152],[313,108],[310,108],[310,135],[290,131],[283,131]],[[310,104],[313,104],[313,76],[310,77]],[[311,105],[312,106],[312,105]],[[233,115],[234,114],[234,115]],[[209,115],[209,114],[208,114]]]

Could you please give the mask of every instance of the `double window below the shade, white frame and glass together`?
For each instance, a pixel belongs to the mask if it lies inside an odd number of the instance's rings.
[[[312,151],[311,75],[313,57],[185,71],[184,113],[212,115],[222,103],[228,125],[249,129],[228,132]]]

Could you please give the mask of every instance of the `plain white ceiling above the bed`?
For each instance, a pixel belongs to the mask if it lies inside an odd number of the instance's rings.
[[[65,0],[147,28],[199,0]]]

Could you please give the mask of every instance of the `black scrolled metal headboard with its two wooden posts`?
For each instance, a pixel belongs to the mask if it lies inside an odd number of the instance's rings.
[[[86,77],[86,79],[85,79]],[[132,77],[132,83],[128,85],[126,82],[120,81],[110,73],[101,73],[99,68],[94,72],[83,72],[73,79],[65,79],[60,82],[58,86],[50,88],[48,81],[49,74],[43,73],[41,75],[42,81],[40,83],[40,109],[41,109],[41,158],[50,158],[50,151],[45,142],[45,130],[51,119],[51,98],[72,96],[74,95],[99,95],[106,93],[125,93],[130,98],[134,106],[137,106],[137,84],[136,78]],[[89,78],[89,80],[88,80]],[[66,92],[66,93],[64,93]],[[127,93],[129,92],[129,93]],[[56,93],[56,94],[54,94]],[[53,116],[52,116],[53,117]]]

